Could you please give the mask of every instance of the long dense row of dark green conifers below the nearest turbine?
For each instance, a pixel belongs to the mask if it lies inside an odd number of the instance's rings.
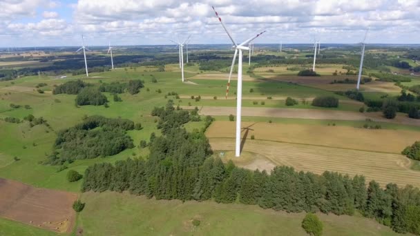
[[[203,132],[171,128],[151,141],[149,158],[95,164],[86,169],[82,191],[128,190],[156,199],[240,202],[298,213],[318,212],[374,218],[399,233],[420,234],[420,191],[365,177],[323,175],[277,166],[268,174],[223,164],[213,157]]]

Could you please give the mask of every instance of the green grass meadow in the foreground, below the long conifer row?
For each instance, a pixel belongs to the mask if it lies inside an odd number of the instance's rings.
[[[77,228],[86,235],[306,235],[300,226],[305,213],[213,201],[156,201],[112,192],[84,193],[82,201],[86,208],[79,214]],[[318,216],[323,235],[396,235],[360,216]],[[200,220],[200,226],[193,226],[193,219]]]

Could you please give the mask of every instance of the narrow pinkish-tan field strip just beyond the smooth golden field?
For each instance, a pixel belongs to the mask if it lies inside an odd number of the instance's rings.
[[[182,106],[188,109],[188,106]],[[236,114],[236,107],[224,106],[202,106],[200,115],[230,115]],[[343,121],[372,121],[386,122],[392,124],[405,124],[409,126],[420,126],[420,121],[410,119],[405,114],[399,114],[395,119],[385,119],[381,112],[351,112],[343,110],[317,110],[300,108],[250,108],[242,107],[244,117],[279,117],[279,118],[298,118],[298,119],[329,119]]]

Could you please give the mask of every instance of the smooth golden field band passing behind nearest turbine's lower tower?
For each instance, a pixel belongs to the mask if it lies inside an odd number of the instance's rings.
[[[420,132],[415,131],[370,130],[347,126],[242,122],[242,128],[242,136],[247,129],[247,137],[254,135],[256,139],[396,154],[420,139]],[[206,136],[234,138],[235,130],[236,122],[215,121],[208,128]]]

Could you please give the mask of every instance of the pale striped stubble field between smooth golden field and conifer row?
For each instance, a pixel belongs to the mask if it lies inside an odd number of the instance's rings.
[[[234,139],[209,139],[213,150],[234,150]],[[328,148],[277,141],[247,140],[243,150],[265,156],[276,166],[293,166],[296,170],[322,174],[325,170],[364,175],[381,186],[395,183],[420,187],[420,171],[410,170],[410,159],[392,153]]]

